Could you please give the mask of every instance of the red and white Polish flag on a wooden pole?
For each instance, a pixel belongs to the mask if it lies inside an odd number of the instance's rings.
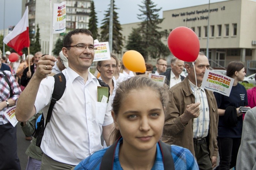
[[[22,55],[22,49],[29,47],[29,31],[28,31],[28,7],[17,25],[13,30],[4,37],[3,42],[13,48],[19,55]]]

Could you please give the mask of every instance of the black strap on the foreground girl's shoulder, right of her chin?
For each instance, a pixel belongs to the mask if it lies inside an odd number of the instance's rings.
[[[173,156],[171,154],[172,147],[162,141],[158,142],[163,155],[164,169],[175,170]]]

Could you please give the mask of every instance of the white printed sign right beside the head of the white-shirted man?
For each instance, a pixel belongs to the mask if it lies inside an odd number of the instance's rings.
[[[94,42],[95,50],[93,61],[103,61],[110,59],[109,42]]]

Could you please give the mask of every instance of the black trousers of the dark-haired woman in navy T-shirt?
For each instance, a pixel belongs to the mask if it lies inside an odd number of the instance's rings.
[[[241,138],[217,138],[217,141],[219,148],[219,166],[216,169],[230,170],[236,166]]]

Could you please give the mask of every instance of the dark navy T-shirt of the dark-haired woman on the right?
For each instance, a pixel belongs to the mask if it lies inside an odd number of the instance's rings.
[[[238,83],[237,86],[232,87],[229,97],[216,92],[213,94],[216,98],[218,109],[226,110],[228,106],[239,108],[240,106],[248,105],[246,89],[240,83]],[[223,116],[219,116],[218,137],[241,138],[243,129],[242,115],[237,119],[238,122],[236,127],[228,127],[223,122]]]

